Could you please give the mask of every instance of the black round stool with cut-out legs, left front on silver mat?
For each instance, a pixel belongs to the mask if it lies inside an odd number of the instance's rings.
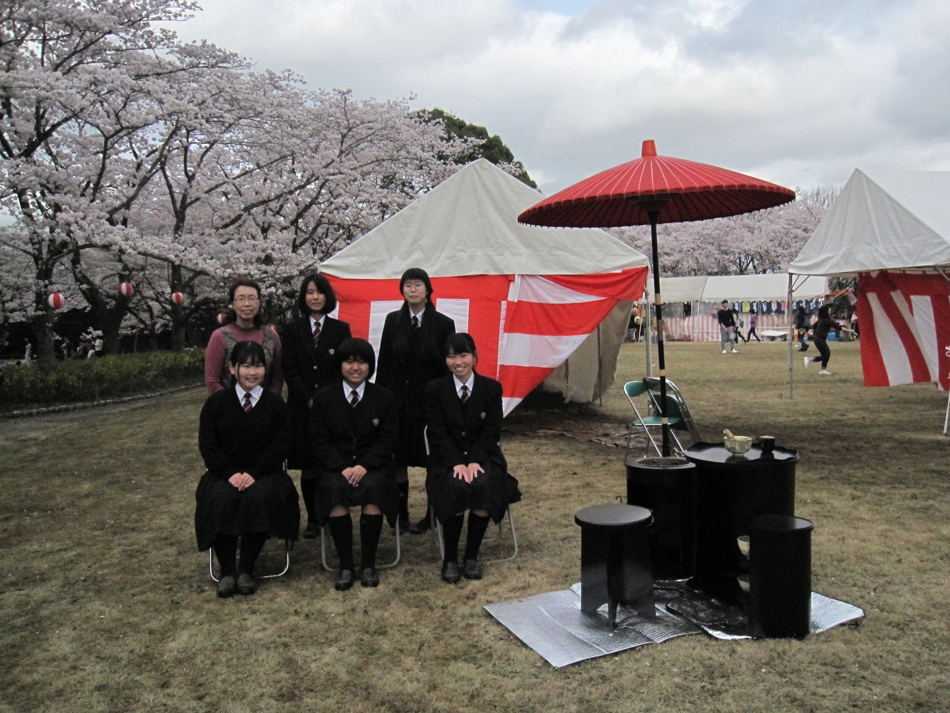
[[[654,581],[647,528],[653,513],[636,505],[592,505],[574,514],[580,525],[580,610],[608,606],[611,628],[617,606],[654,618]]]

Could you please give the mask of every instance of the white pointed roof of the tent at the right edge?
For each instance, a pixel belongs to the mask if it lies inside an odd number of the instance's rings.
[[[950,171],[855,169],[788,266],[842,275],[950,264]]]

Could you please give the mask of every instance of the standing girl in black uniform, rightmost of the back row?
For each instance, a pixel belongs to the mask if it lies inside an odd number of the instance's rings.
[[[399,520],[405,527],[409,524],[409,466],[426,467],[423,390],[432,379],[447,375],[443,348],[455,333],[455,322],[435,311],[432,282],[422,268],[411,267],[403,273],[399,290],[406,301],[386,316],[376,383],[390,389],[399,409],[396,481]],[[409,531],[422,534],[430,525],[427,506],[426,514]]]

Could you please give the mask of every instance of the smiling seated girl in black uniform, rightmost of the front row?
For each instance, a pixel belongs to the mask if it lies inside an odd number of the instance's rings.
[[[450,376],[426,386],[429,464],[426,490],[442,523],[446,557],[442,578],[455,584],[482,579],[478,562],[488,520],[501,522],[508,503],[521,500],[518,481],[507,473],[502,438],[502,385],[474,372],[475,341],[463,333],[448,337]],[[468,511],[463,572],[458,565],[462,522]]]

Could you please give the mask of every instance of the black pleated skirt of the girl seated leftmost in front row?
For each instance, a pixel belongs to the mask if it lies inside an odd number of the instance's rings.
[[[195,491],[195,535],[198,549],[208,549],[218,534],[267,532],[270,537],[296,540],[300,530],[300,499],[287,472],[263,475],[250,488],[238,491],[210,472]]]

